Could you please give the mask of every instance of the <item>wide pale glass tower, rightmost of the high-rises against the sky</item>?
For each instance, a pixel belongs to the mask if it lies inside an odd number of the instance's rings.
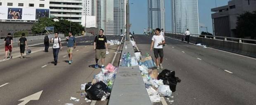
[[[198,0],[171,0],[173,32],[199,34]]]

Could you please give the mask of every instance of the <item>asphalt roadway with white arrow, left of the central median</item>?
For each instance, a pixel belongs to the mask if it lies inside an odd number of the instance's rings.
[[[107,36],[108,40],[121,37]],[[53,64],[52,49],[49,52],[40,50],[26,56],[25,59],[13,58],[0,62],[0,105],[18,105],[22,98],[39,91],[39,100],[31,100],[26,105],[90,105],[81,97],[80,85],[91,82],[93,76],[100,72],[95,69],[95,51],[92,47],[93,36],[77,38],[77,47],[73,51],[73,63],[67,63],[66,43],[59,52],[58,64]],[[117,45],[109,46],[110,54],[106,64],[111,63]],[[43,45],[33,46],[33,49],[43,49]],[[33,51],[33,50],[32,50]],[[3,53],[3,52],[1,52]],[[119,55],[120,56],[120,55]],[[114,65],[117,66],[119,58],[116,57]],[[79,102],[69,100],[70,97],[80,99]],[[96,102],[96,105],[107,102]]]

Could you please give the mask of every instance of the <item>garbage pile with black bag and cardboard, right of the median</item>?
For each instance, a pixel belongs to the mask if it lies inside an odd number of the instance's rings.
[[[175,71],[165,69],[161,73],[158,73],[155,69],[156,65],[153,58],[149,54],[146,54],[146,56],[142,56],[139,61],[143,82],[145,83],[151,102],[161,102],[161,96],[171,97],[171,94],[176,91],[177,83],[181,82],[181,80],[175,77]]]

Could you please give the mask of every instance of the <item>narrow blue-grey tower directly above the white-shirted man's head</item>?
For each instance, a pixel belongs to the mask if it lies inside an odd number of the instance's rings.
[[[164,1],[165,0],[147,0],[149,28],[163,28],[165,30]]]

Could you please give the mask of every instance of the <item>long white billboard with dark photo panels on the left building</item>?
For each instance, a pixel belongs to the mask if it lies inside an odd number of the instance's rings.
[[[36,21],[49,16],[50,9],[0,7],[0,20]]]

